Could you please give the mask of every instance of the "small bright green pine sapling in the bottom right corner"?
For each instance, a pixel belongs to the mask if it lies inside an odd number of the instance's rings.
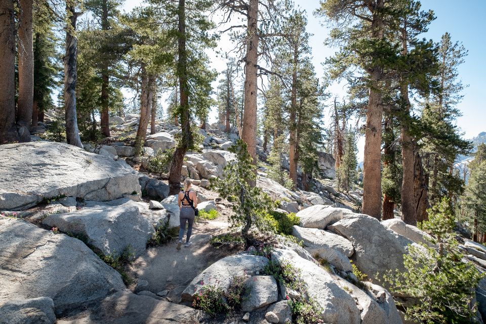
[[[418,301],[407,308],[407,319],[427,324],[470,323],[477,311],[477,306],[471,305],[473,287],[482,274],[472,263],[462,261],[448,199],[443,198],[428,213],[423,229],[431,234],[434,246],[409,246],[409,254],[403,256],[407,271],[389,271],[385,282],[395,294]]]

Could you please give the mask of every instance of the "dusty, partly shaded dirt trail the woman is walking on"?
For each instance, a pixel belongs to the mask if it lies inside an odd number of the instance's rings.
[[[224,216],[215,220],[199,220],[192,228],[192,246],[177,250],[177,240],[161,247],[147,249],[130,266],[130,275],[138,280],[147,280],[147,290],[156,294],[168,290],[172,302],[181,302],[181,293],[200,272],[212,263],[234,252],[216,249],[209,244],[211,236],[228,229]],[[185,238],[184,238],[185,241]]]

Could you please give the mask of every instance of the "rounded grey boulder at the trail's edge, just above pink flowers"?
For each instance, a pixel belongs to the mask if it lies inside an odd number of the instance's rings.
[[[232,255],[210,265],[196,276],[182,292],[182,300],[192,300],[204,285],[212,285],[227,290],[232,277],[252,275],[262,271],[268,259],[254,255]]]

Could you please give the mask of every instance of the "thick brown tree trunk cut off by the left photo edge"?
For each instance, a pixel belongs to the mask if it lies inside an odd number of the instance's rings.
[[[15,126],[14,2],[0,2],[0,144],[19,140]]]

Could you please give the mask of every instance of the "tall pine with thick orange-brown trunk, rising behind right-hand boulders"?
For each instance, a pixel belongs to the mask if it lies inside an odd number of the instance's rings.
[[[381,218],[381,124],[383,116],[384,80],[395,64],[397,50],[387,37],[393,32],[396,13],[383,0],[322,1],[318,16],[325,16],[339,28],[331,32],[328,44],[342,44],[338,53],[328,60],[332,78],[351,76],[359,67],[358,78],[369,88],[366,110],[363,208],[365,214]]]

